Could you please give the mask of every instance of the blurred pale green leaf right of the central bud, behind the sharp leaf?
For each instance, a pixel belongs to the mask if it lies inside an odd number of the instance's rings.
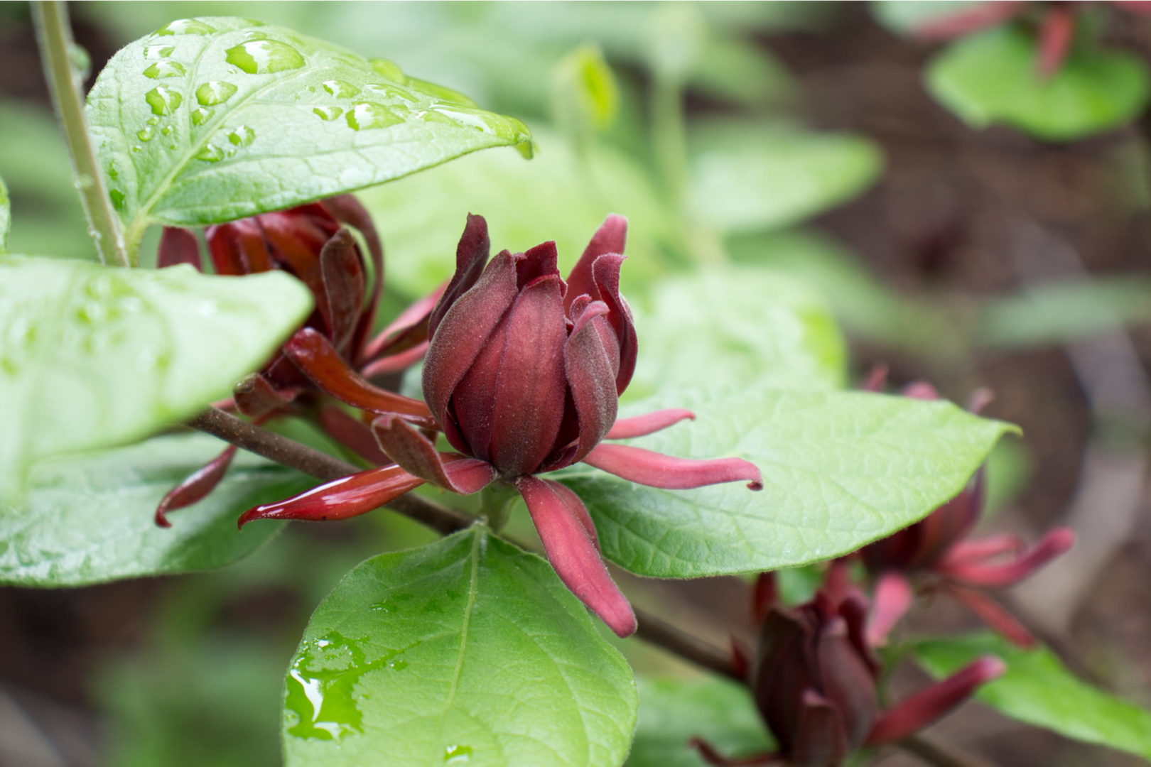
[[[663,386],[838,389],[844,339],[802,283],[756,267],[711,267],[655,283],[637,314],[643,352],[630,394]]]

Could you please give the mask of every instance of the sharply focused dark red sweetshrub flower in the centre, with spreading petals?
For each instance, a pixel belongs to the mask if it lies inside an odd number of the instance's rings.
[[[742,480],[759,490],[762,483],[759,469],[742,459],[687,460],[602,443],[694,417],[683,409],[616,417],[637,356],[631,310],[619,293],[625,233],[626,221],[609,216],[565,282],[555,243],[525,253],[503,251],[489,261],[487,223],[468,216],[456,274],[428,320],[427,416],[369,407],[371,389],[356,396],[333,391],[380,413],[372,429],[395,465],[256,507],[241,524],[344,519],[425,482],[458,493],[504,482],[524,497],[567,588],[618,635],[633,632],[635,616],[600,557],[582,501],[567,486],[538,475],[584,461],[658,488]],[[428,427],[442,431],[456,452],[439,451],[422,430]]]

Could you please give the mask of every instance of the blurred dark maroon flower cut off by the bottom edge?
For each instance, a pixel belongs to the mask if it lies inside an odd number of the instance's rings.
[[[1001,675],[1003,661],[975,660],[950,677],[884,712],[879,707],[879,664],[869,645],[867,601],[847,581],[843,562],[808,603],[785,607],[776,599],[770,573],[760,578],[753,607],[761,624],[754,661],[738,662],[777,751],[727,759],[694,738],[708,764],[839,767],[860,749],[900,741],[966,700]]]

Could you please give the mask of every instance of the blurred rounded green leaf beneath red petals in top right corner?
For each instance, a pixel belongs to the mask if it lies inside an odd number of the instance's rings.
[[[1036,56],[1028,30],[993,29],[937,56],[928,89],[973,128],[1005,123],[1051,141],[1122,125],[1148,102],[1146,66],[1131,53],[1078,46],[1046,80],[1036,74]]]

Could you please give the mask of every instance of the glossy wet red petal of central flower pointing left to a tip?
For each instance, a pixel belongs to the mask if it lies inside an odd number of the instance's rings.
[[[346,520],[366,514],[424,484],[398,466],[386,466],[326,482],[298,496],[244,512],[238,527],[252,520]]]

